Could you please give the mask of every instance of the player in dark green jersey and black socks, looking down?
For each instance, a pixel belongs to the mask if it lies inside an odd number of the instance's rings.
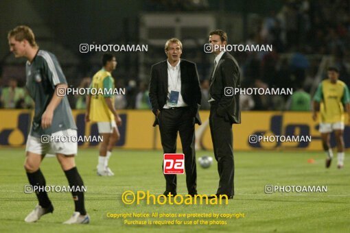
[[[39,204],[25,221],[32,223],[49,212],[54,212],[49,197],[45,191],[45,177],[40,171],[40,163],[45,154],[56,154],[58,162],[65,172],[69,186],[71,186],[75,212],[65,221],[66,224],[89,223],[90,217],[84,206],[84,193],[81,191],[84,183],[75,167],[74,156],[77,154],[78,144],[61,143],[40,140],[42,136],[51,135],[72,137],[77,135],[77,127],[73,121],[71,108],[66,96],[57,95],[57,91],[67,88],[65,75],[54,54],[41,50],[36,45],[32,29],[18,26],[8,33],[10,51],[16,58],[27,58],[25,74],[28,93],[35,102],[34,119],[25,149],[25,171],[32,186],[36,186],[36,197]],[[35,190],[35,189],[34,189]]]

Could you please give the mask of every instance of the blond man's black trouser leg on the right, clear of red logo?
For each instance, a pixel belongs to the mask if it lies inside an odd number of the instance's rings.
[[[191,112],[189,110],[183,110],[178,131],[181,144],[183,145],[183,154],[185,154],[186,184],[189,194],[197,193],[194,121],[195,119],[194,116],[191,116]]]

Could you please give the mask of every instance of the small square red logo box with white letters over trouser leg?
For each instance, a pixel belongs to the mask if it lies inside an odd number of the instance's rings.
[[[163,173],[164,174],[185,173],[185,154],[164,154]]]

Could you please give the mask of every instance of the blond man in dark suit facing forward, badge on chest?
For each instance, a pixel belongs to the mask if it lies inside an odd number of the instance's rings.
[[[164,154],[176,153],[177,133],[185,154],[186,184],[189,195],[197,194],[197,170],[194,124],[201,124],[200,84],[196,64],[180,59],[183,45],[172,38],[165,43],[167,60],[151,69],[150,101],[156,115],[153,126],[159,124]],[[164,174],[164,195],[176,195],[176,175]]]

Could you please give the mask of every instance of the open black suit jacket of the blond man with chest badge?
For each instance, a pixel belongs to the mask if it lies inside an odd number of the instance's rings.
[[[181,95],[183,101],[190,107],[196,117],[196,123],[201,125],[200,116],[198,113],[200,107],[200,84],[198,79],[198,71],[196,63],[181,59],[180,61],[181,74]],[[150,79],[150,101],[152,112],[156,114],[156,110],[162,110],[167,102],[167,60],[156,63],[151,68]],[[154,121],[153,126],[158,124],[158,119]]]

